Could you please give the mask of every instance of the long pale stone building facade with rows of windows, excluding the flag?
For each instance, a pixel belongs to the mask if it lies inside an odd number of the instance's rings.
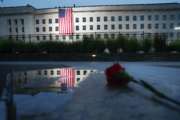
[[[144,39],[155,34],[176,40],[180,31],[180,4],[130,4],[72,7],[73,34],[59,34],[59,7],[30,5],[0,8],[0,36],[27,42],[81,41],[90,36],[115,39],[119,34]]]

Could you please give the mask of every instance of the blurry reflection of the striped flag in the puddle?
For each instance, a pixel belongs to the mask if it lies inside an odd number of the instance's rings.
[[[66,84],[67,88],[74,88],[75,86],[75,70],[73,68],[59,69],[60,76],[57,81],[60,84]]]

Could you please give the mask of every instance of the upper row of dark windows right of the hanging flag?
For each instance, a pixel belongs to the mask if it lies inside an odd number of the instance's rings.
[[[147,18],[145,18],[146,16],[145,15],[140,15],[140,16],[104,16],[104,17],[96,17],[96,20],[94,20],[95,18],[94,17],[89,17],[89,18],[86,18],[86,17],[82,17],[81,18],[81,21],[82,22],[93,22],[93,21],[96,21],[96,22],[101,22],[101,21],[104,21],[104,22],[107,22],[107,21],[112,21],[112,22],[115,22],[115,21],[130,21],[130,20],[133,20],[133,21],[144,21],[145,19],[147,20],[160,20],[160,17],[162,20],[180,20],[180,14],[179,15],[148,15]],[[102,19],[102,20],[101,20]],[[75,21],[78,23],[80,22],[80,18],[76,17],[75,18]]]

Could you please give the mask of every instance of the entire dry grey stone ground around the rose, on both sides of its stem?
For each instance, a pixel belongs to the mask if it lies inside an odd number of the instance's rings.
[[[46,63],[43,63],[46,65]],[[98,69],[74,91],[64,108],[58,100],[49,114],[34,116],[31,120],[179,120],[180,107],[158,99],[135,84],[124,89],[106,87],[104,69],[112,62],[52,62],[78,68]],[[143,79],[180,101],[180,62],[122,62],[136,79]],[[51,96],[51,95],[50,95]],[[51,96],[51,98],[56,98]],[[48,100],[45,100],[48,101]],[[49,102],[52,102],[49,99]],[[48,103],[48,102],[46,102]],[[33,104],[33,103],[31,103]],[[39,102],[39,104],[41,104]],[[56,106],[57,105],[57,106]],[[42,105],[38,105],[39,107]],[[27,107],[24,105],[24,107]],[[42,106],[43,108],[44,106]],[[35,109],[36,106],[34,105]],[[48,109],[48,108],[44,108]]]

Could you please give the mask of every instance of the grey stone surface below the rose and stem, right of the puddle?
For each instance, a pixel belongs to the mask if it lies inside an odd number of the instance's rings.
[[[180,107],[135,84],[110,89],[103,73],[82,82],[57,120],[179,120]]]

